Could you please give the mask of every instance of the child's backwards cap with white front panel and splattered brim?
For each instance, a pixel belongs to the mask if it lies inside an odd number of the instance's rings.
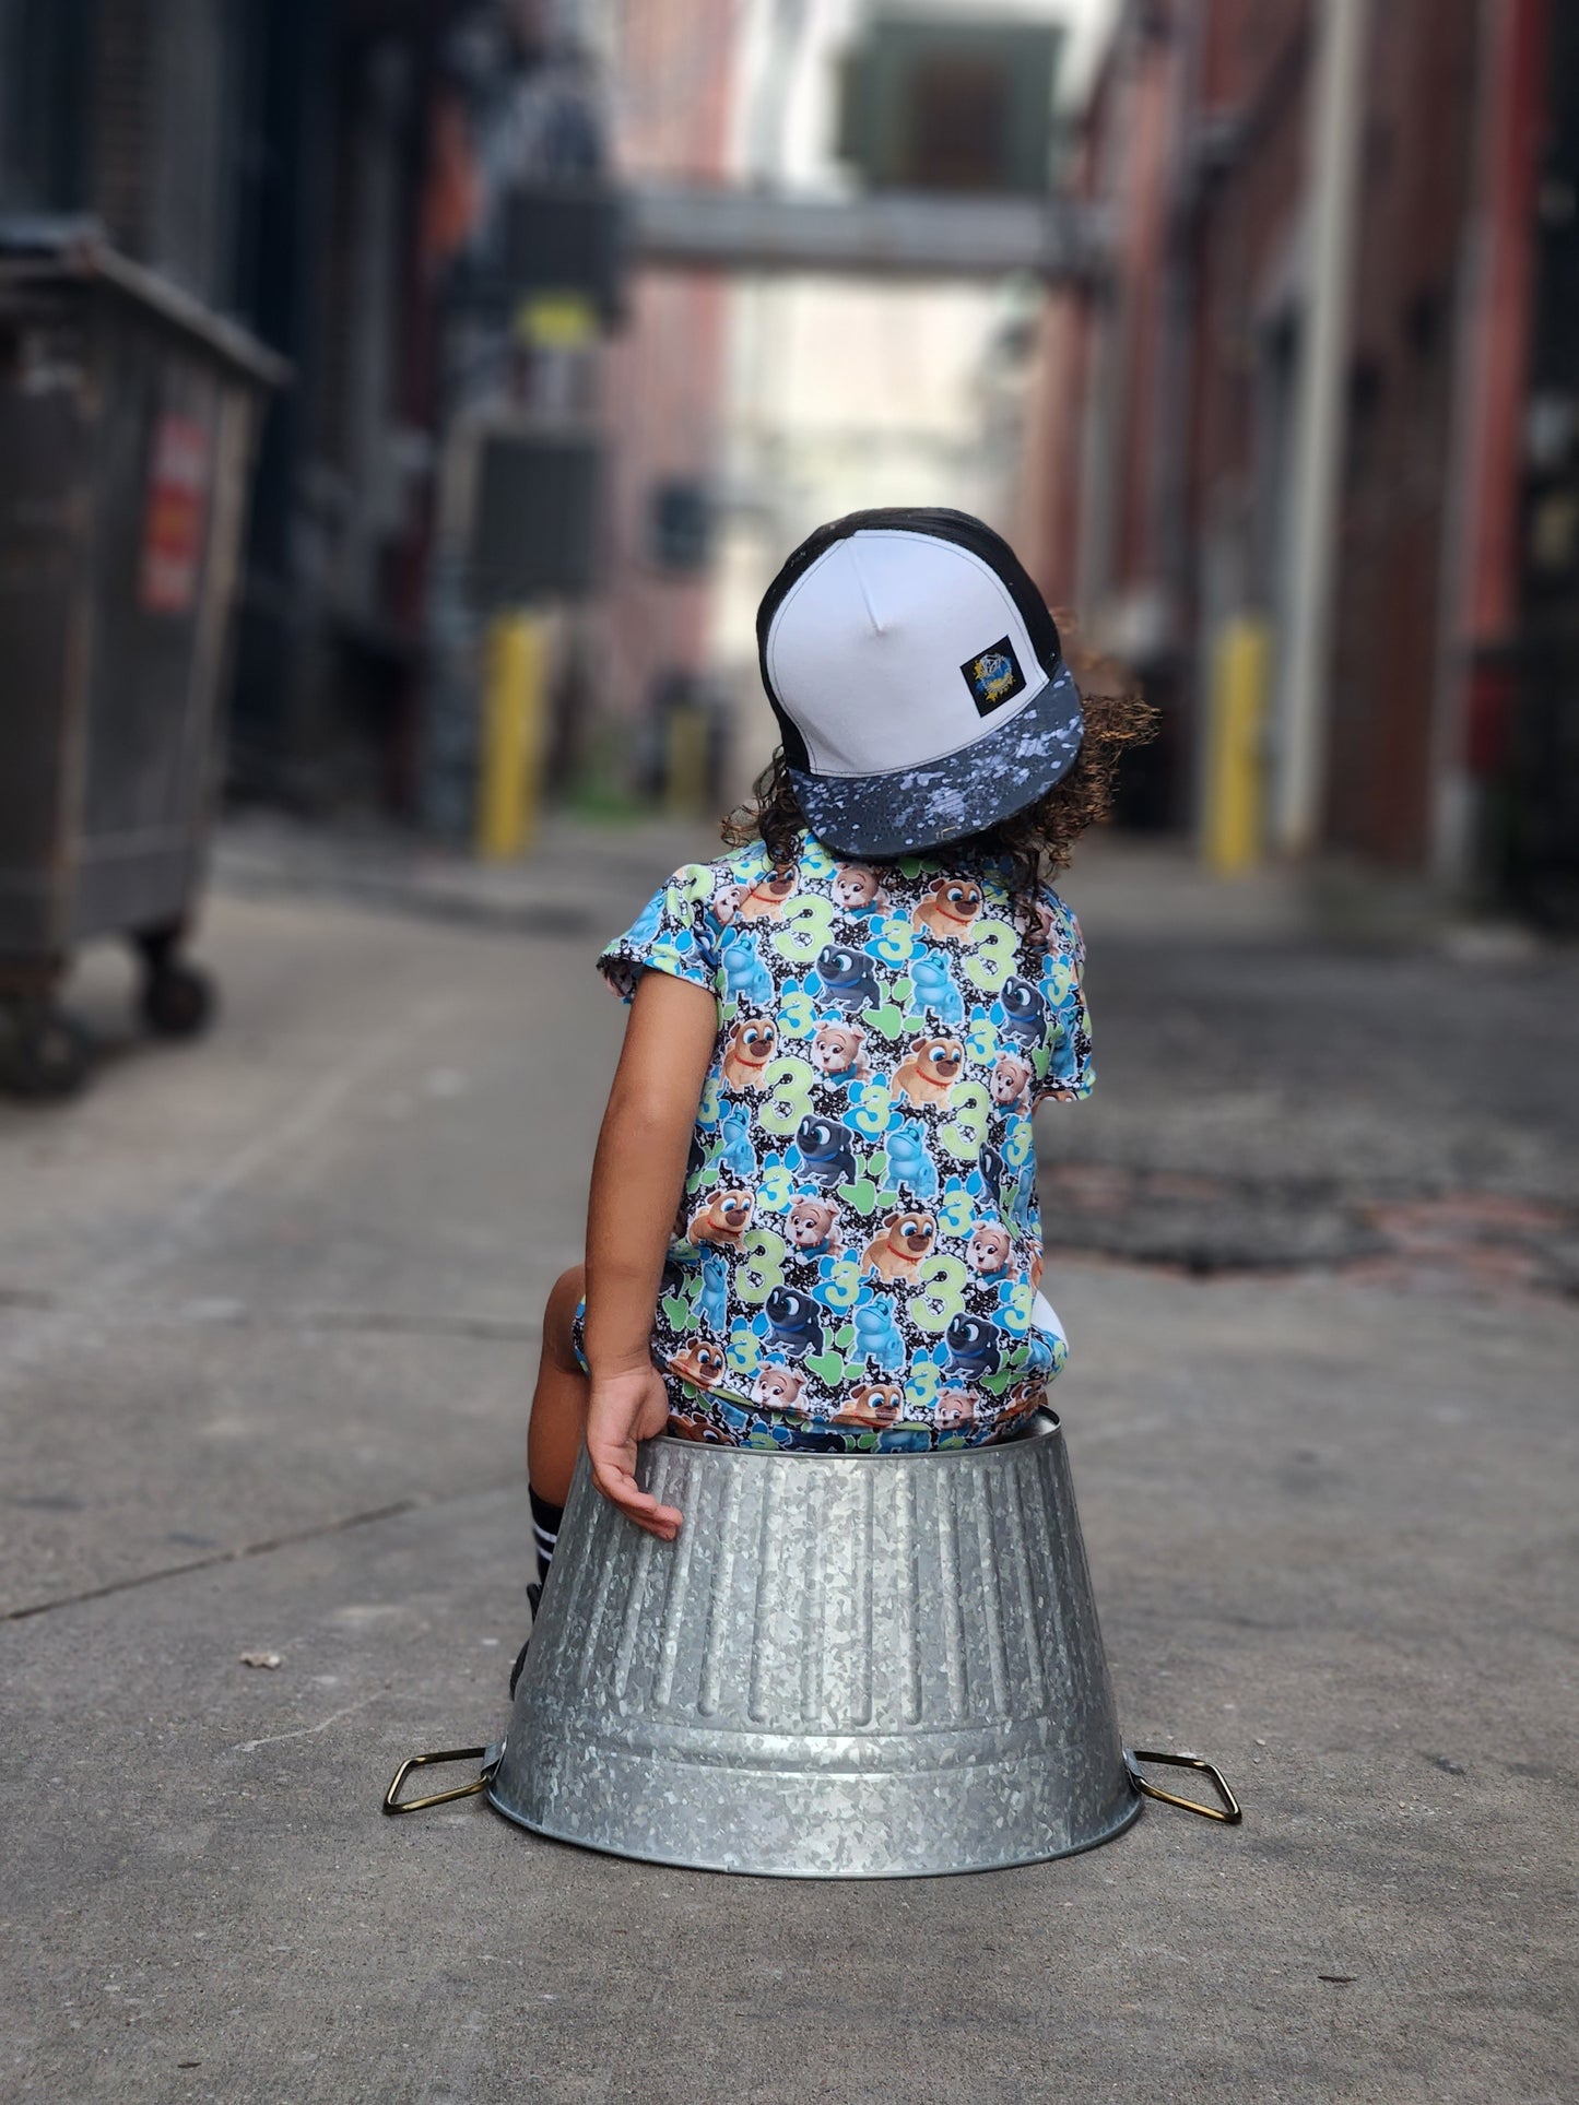
[[[1080,695],[1023,564],[966,512],[819,526],[756,617],[806,825],[914,855],[1034,804],[1080,751]]]

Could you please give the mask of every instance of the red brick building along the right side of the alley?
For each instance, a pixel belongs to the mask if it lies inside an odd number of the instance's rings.
[[[1310,556],[1322,11],[1356,4],[1314,838],[1463,882],[1505,876],[1495,815],[1531,707],[1520,448],[1541,198],[1566,152],[1545,0],[1131,0],[1074,162],[1112,215],[1112,272],[1046,320],[1040,564],[1164,707],[1135,791],[1158,825],[1202,815],[1217,638],[1270,623],[1274,813]]]

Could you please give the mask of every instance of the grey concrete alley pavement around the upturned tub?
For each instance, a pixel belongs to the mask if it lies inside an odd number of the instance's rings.
[[[1579,1311],[1526,1278],[1059,1259],[1124,1730],[1219,1758],[1238,1831],[1147,1808],[1057,1865],[796,1886],[581,1855],[476,1800],[379,1817],[404,1753],[505,1718],[535,1314],[619,1036],[587,947],[669,846],[556,842],[537,916],[232,869],[219,1034],[126,1036],[80,1105],[0,1107],[0,2097],[1566,2099]],[[1118,878],[1105,907],[1095,865],[1070,886],[1110,1126],[1055,1128],[1055,1189],[1221,1166],[1154,1101],[1166,1031],[1133,1044],[1173,943]],[[1240,914],[1194,983],[1288,1019],[1286,1088],[1303,996],[1246,960],[1307,937]],[[1331,991],[1362,960],[1314,964]],[[1451,968],[1411,966],[1432,1029]],[[1493,970],[1537,975],[1499,1000],[1547,1059],[1566,964]],[[95,960],[109,1034],[120,994]],[[1472,1189],[1562,1210],[1558,1090],[1478,1126],[1467,1059],[1392,1114],[1411,1059],[1383,1067],[1350,1099],[1339,1071],[1333,1118],[1417,1132],[1415,1200],[1436,1120],[1491,1135]],[[1276,1183],[1276,1124],[1236,1175]],[[1242,1139],[1230,1109],[1204,1132]]]

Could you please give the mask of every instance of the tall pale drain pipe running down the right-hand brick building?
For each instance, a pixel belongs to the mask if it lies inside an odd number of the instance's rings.
[[[1316,8],[1288,638],[1272,819],[1284,855],[1310,855],[1322,821],[1368,15],[1368,0],[1320,0]]]

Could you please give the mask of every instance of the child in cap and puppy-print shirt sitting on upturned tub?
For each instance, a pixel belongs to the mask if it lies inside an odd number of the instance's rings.
[[[549,1295],[539,1577],[585,1440],[674,1539],[636,1444],[899,1452],[1004,1440],[1067,1347],[1038,1292],[1032,1111],[1091,1090],[1074,914],[1044,884],[1150,711],[1086,711],[1006,543],[857,512],[758,615],[781,749],[733,855],[598,968],[632,1002],[587,1261]]]

